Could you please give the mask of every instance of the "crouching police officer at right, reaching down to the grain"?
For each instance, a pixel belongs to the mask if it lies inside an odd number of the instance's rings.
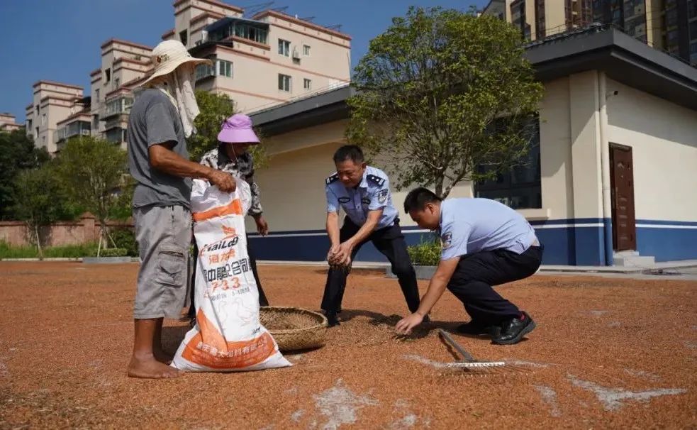
[[[404,211],[421,228],[438,231],[442,255],[419,309],[397,323],[398,333],[420,324],[446,287],[471,317],[458,327],[461,333],[489,333],[494,343],[510,345],[535,329],[527,312],[491,287],[540,268],[542,246],[522,215],[490,199],[441,200],[425,188],[407,194]]]

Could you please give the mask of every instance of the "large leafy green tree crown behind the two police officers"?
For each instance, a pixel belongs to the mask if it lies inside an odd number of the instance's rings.
[[[519,30],[441,8],[394,18],[353,82],[348,140],[389,157],[397,189],[433,185],[440,197],[518,164],[542,98]]]

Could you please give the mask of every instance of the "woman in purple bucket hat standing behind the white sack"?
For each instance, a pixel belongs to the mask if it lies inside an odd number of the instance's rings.
[[[244,114],[235,114],[226,119],[220,133],[218,133],[218,148],[208,151],[201,158],[201,164],[213,169],[222,170],[234,177],[245,180],[250,184],[252,191],[252,206],[250,214],[257,224],[257,231],[266,236],[269,233],[269,225],[262,215],[262,205],[259,200],[259,187],[254,182],[254,159],[252,154],[247,152],[250,145],[259,145],[260,141],[254,130],[252,130],[252,119]],[[198,250],[194,252],[198,253]],[[262,290],[262,285],[257,274],[257,260],[254,258],[250,248],[249,236],[247,236],[247,253],[249,253],[252,273],[257,280],[259,288],[260,306],[269,306],[269,301]],[[194,270],[194,273],[196,270]],[[189,307],[189,317],[191,324],[194,324],[196,310],[194,309],[194,289],[191,289],[191,307]]]

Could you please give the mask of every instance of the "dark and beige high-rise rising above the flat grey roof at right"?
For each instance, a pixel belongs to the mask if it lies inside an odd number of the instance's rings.
[[[527,40],[613,24],[697,65],[697,0],[491,0],[481,13],[512,23]]]

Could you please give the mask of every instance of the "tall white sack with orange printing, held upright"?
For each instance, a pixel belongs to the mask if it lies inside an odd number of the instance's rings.
[[[191,211],[199,246],[196,324],[184,336],[172,367],[193,372],[234,372],[291,365],[259,321],[259,291],[247,255],[245,214],[250,187],[233,193],[194,180]]]

